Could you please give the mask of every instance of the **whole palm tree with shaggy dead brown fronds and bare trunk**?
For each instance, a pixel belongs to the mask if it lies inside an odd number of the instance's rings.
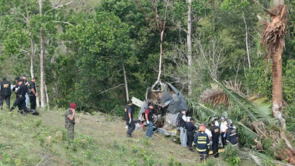
[[[286,122],[283,119],[283,86],[282,86],[282,53],[285,47],[287,7],[284,0],[274,0],[274,6],[269,11],[271,22],[265,22],[262,33],[262,44],[267,46],[266,58],[272,60],[272,114],[279,119],[283,129]]]

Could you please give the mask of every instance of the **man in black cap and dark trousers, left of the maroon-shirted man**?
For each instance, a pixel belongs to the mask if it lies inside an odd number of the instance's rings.
[[[128,131],[127,131],[127,137],[131,137],[132,138],[132,135],[131,133],[134,131],[135,129],[135,124],[134,124],[134,121],[133,121],[133,111],[132,111],[132,101],[129,100],[127,102],[127,105],[125,106],[125,121],[127,123],[127,126],[128,126]]]

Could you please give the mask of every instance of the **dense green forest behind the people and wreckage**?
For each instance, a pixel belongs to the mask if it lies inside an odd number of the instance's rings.
[[[210,110],[243,123],[251,113],[243,114],[238,97],[272,101],[275,50],[264,39],[275,3],[286,5],[282,112],[292,134],[292,0],[1,0],[0,76],[37,76],[43,108],[75,102],[78,110],[117,116],[128,98],[144,100],[162,80],[185,95],[201,121]]]

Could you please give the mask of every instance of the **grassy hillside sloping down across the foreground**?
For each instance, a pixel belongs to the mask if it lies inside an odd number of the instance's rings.
[[[65,134],[63,109],[40,113],[1,111],[0,165],[200,165],[197,153],[169,139],[149,140],[142,130],[128,138],[116,117],[77,114],[76,138],[71,141]],[[217,163],[227,165],[221,158],[207,161]]]

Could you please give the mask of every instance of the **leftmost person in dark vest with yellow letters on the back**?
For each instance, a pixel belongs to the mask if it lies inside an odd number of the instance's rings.
[[[6,78],[2,78],[2,82],[0,83],[0,91],[1,91],[1,97],[0,97],[0,106],[1,109],[3,107],[3,102],[5,100],[6,105],[8,106],[8,109],[10,108],[10,96],[11,96],[11,90],[12,85],[9,81],[6,80]]]

